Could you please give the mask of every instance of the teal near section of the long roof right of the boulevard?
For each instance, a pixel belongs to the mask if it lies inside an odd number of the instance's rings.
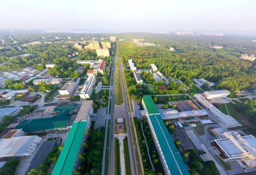
[[[161,116],[154,114],[150,115],[149,119],[171,175],[189,175],[189,171],[182,160],[180,152],[178,152]]]

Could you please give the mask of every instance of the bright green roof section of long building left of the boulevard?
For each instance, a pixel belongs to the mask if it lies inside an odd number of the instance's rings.
[[[52,175],[71,175],[79,152],[87,121],[74,122]]]

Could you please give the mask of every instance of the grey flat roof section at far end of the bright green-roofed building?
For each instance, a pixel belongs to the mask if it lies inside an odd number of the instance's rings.
[[[89,100],[89,101],[84,101],[81,104],[81,107],[76,115],[76,121],[87,121],[87,118],[89,116],[90,113],[90,108],[93,105],[93,100]]]

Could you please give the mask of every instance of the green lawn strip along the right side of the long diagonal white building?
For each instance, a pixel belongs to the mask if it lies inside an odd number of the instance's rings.
[[[230,113],[230,116],[232,116],[234,119],[236,119],[240,124],[246,126],[246,127],[251,127],[253,126],[252,122],[250,119],[245,118],[241,113],[236,111],[236,104],[233,103],[227,103],[227,110]]]

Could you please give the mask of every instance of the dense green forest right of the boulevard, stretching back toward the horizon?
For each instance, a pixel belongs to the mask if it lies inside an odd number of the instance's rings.
[[[160,46],[140,47],[131,43],[131,40],[122,41],[117,42],[117,54],[125,62],[133,59],[137,68],[150,68],[152,63],[166,76],[176,79],[204,78],[217,83],[217,88],[230,92],[237,92],[250,83],[256,83],[256,62],[239,59],[242,53],[254,54],[255,44],[211,40],[192,40],[191,37],[187,41],[178,40],[177,37],[167,40],[156,38],[152,34],[145,42],[157,43]],[[210,48],[208,42],[225,47]],[[175,47],[178,51],[168,51],[168,47]]]

